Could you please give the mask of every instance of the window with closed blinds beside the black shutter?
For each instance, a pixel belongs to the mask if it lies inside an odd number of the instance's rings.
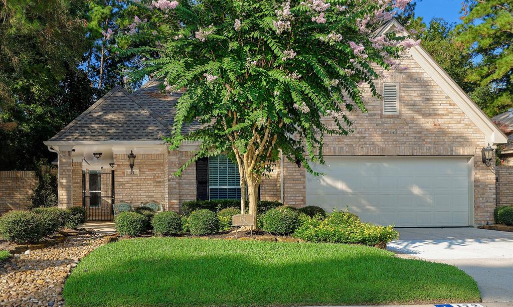
[[[225,155],[209,158],[208,188],[210,199],[240,199],[239,168]]]

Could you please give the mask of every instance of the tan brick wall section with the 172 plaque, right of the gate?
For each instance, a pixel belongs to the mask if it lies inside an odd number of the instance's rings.
[[[134,207],[141,203],[165,204],[164,166],[165,154],[136,154],[134,169],[139,176],[125,176],[130,170],[125,154],[114,155],[114,197],[115,202],[127,202]]]

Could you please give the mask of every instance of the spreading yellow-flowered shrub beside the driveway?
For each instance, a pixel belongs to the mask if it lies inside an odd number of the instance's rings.
[[[398,239],[399,233],[392,225],[362,223],[360,218],[352,213],[333,211],[324,219],[320,216],[311,218],[304,215],[293,236],[311,242],[376,246],[381,242],[388,243]]]

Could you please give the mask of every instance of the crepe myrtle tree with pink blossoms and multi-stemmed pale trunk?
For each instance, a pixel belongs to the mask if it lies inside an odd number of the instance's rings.
[[[363,89],[379,96],[377,68],[398,68],[419,41],[374,34],[409,0],[181,0],[142,2],[127,33],[148,46],[144,68],[163,91],[182,91],[173,130],[176,149],[200,141],[199,158],[232,152],[241,210],[256,221],[260,182],[279,157],[312,170],[324,163],[326,135],[352,131],[348,112],[365,112]],[[193,122],[199,129],[188,129]],[[255,223],[256,225],[256,223]]]

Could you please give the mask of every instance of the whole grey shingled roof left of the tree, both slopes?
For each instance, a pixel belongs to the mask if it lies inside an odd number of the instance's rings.
[[[162,94],[159,85],[150,80],[133,94],[115,86],[49,141],[161,140],[161,133],[171,131],[174,105],[182,93]]]

